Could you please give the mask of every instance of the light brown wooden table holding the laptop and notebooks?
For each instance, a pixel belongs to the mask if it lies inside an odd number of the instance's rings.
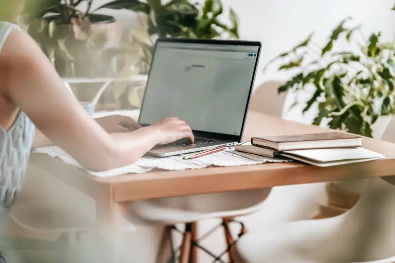
[[[323,133],[328,130],[250,111],[244,138],[249,140],[252,136]],[[363,138],[363,146],[383,154],[386,158],[326,168],[294,162],[266,163],[184,171],[151,171],[108,178],[90,176],[82,170],[43,154],[32,154],[31,161],[94,198],[97,203],[99,231],[108,235],[121,233],[125,208],[135,200],[386,177],[395,174],[395,144]],[[117,242],[112,245],[114,251],[119,247]]]

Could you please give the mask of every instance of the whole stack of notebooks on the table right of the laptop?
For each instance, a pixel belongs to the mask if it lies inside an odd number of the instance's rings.
[[[344,133],[254,137],[235,148],[269,158],[289,158],[317,166],[332,166],[383,159],[362,148],[362,137]]]

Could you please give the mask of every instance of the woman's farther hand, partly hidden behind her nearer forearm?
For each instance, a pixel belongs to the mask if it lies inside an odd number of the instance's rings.
[[[123,115],[109,115],[95,119],[107,133],[128,133],[141,128],[141,126],[131,117]]]

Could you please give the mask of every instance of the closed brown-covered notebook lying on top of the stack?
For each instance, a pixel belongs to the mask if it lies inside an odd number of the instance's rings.
[[[277,151],[361,147],[362,137],[332,132],[289,136],[254,137],[251,143]]]

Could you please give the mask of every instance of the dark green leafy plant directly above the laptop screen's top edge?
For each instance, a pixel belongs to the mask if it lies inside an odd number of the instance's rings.
[[[148,15],[148,32],[161,37],[216,38],[228,34],[239,38],[238,17],[230,9],[231,26],[219,21],[223,12],[220,0],[206,0],[204,5],[192,4],[188,0],[172,0],[162,4],[161,0],[115,0],[99,9],[127,9]]]

